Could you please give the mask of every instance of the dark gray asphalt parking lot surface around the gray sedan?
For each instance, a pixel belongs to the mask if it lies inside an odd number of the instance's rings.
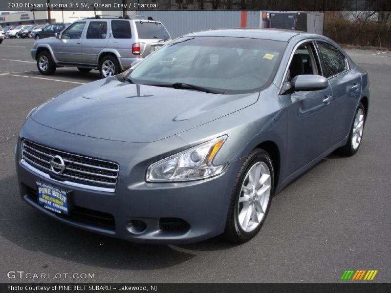
[[[1,282],[336,282],[349,269],[379,270],[374,281],[391,281],[390,52],[348,50],[371,83],[360,150],[350,158],[331,154],[275,196],[253,240],[153,246],[66,226],[20,198],[14,148],[27,113],[99,78],[76,68],[43,76],[32,46],[26,39],[0,44]],[[95,278],[21,280],[7,278],[9,271]]]

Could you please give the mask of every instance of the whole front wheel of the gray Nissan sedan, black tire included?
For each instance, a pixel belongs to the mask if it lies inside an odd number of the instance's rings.
[[[249,188],[249,186],[251,185],[249,175],[254,171],[254,168],[255,170],[257,170],[257,168],[259,167],[261,171],[261,177],[259,180],[255,181],[258,182],[258,186],[256,186],[255,189],[252,187]],[[258,176],[257,173],[252,174]],[[262,179],[262,177],[264,177],[264,179]],[[245,195],[247,191],[243,191],[243,188],[249,191],[249,196]],[[258,193],[254,192],[257,190]],[[260,193],[260,191],[262,190],[264,192]],[[253,238],[259,232],[263,225],[263,222],[265,221],[267,212],[270,209],[273,192],[273,163],[267,152],[265,152],[261,148],[257,148],[246,157],[239,169],[238,175],[235,180],[233,192],[231,194],[227,222],[225,225],[223,237],[234,243],[245,243],[251,238]],[[258,199],[253,196],[257,196]],[[253,198],[247,200],[251,197]],[[260,206],[261,209],[259,208]],[[246,207],[248,207],[248,209],[252,207],[251,209],[253,212],[251,212],[251,210],[246,209]],[[261,212],[261,210],[263,211],[263,213]],[[251,215],[249,216],[250,218],[247,220],[246,225],[246,219],[248,217],[249,212],[251,213]],[[254,219],[256,220],[253,221]],[[243,227],[246,227],[246,230]]]

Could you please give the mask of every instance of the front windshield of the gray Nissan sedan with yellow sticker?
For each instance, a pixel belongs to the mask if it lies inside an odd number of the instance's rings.
[[[128,80],[193,85],[225,94],[257,92],[272,82],[286,44],[234,37],[179,38],[138,64]]]

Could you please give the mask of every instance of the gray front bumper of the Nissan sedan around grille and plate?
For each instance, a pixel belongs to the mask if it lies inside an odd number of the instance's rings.
[[[95,156],[117,162],[120,165],[119,177],[115,192],[101,192],[68,186],[51,179],[45,174],[26,167],[21,163],[21,141],[19,140],[16,154],[16,168],[22,199],[46,215],[61,222],[81,229],[114,236],[139,243],[180,244],[197,242],[217,236],[225,228],[232,183],[239,168],[239,162],[231,163],[226,172],[220,176],[185,183],[146,183],[144,181],[146,166],[134,162],[132,155],[123,156],[123,149],[137,156],[132,143],[116,143],[95,138],[82,137],[64,133],[32,122],[31,119],[23,126],[21,136],[42,145],[63,149],[75,145],[94,146],[92,153],[86,154],[78,149],[72,152]],[[27,131],[24,129],[28,128]],[[36,132],[38,131],[38,132]],[[33,137],[32,133],[40,133],[40,138],[48,137],[46,142]],[[54,143],[53,143],[54,142]],[[73,142],[73,144],[69,144]],[[140,145],[140,144],[139,144]],[[108,147],[110,146],[110,147]],[[139,146],[136,147],[140,149]],[[65,149],[66,150],[66,149]],[[69,149],[67,149],[69,151]],[[140,155],[141,156],[141,155]],[[48,178],[49,177],[49,178]],[[70,215],[58,215],[44,209],[38,204],[36,182],[48,184],[55,188],[70,191]],[[76,216],[72,210],[77,212]],[[103,221],[91,221],[91,218],[80,216],[80,210]],[[189,227],[184,230],[162,230],[161,219],[181,219]],[[143,221],[147,228],[141,233],[130,231],[130,221]]]

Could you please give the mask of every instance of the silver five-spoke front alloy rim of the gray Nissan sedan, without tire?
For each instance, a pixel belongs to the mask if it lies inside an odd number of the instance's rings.
[[[254,164],[244,178],[239,195],[238,224],[245,232],[261,223],[270,200],[270,169],[264,162]]]

